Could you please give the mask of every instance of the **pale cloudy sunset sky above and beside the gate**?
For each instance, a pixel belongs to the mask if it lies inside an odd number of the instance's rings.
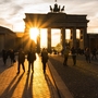
[[[0,0],[0,26],[24,30],[25,13],[48,13],[54,0]],[[87,14],[87,33],[98,33],[98,0],[57,0],[66,14]]]

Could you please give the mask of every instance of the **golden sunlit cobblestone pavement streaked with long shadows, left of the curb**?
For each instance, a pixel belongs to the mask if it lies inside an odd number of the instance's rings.
[[[11,65],[8,59],[7,65],[3,65],[0,58],[0,98],[59,98],[54,82],[47,66],[46,75],[42,73],[40,58],[34,63],[34,73],[27,73],[27,60],[25,60],[24,73],[17,72],[17,61]]]

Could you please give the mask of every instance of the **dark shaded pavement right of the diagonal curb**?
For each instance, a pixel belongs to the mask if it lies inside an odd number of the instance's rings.
[[[62,56],[51,54],[50,62],[74,98],[98,98],[98,60],[87,63],[84,56],[77,56],[76,65],[73,66],[70,57],[68,66],[64,66]]]

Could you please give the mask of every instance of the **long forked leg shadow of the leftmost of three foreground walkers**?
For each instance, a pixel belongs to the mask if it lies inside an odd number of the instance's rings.
[[[7,87],[7,89],[2,93],[2,95],[0,96],[0,98],[11,98],[17,84],[20,83],[20,81],[22,79],[24,73],[19,77],[17,82],[14,84],[17,75],[12,79],[12,82],[10,83],[10,85]],[[13,85],[14,84],[14,85]],[[13,85],[13,87],[11,88],[11,86]]]

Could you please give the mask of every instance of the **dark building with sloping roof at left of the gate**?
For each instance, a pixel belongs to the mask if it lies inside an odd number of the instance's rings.
[[[9,28],[0,26],[0,54],[3,49],[14,49],[17,51],[23,47],[23,36],[20,33],[14,33]]]

